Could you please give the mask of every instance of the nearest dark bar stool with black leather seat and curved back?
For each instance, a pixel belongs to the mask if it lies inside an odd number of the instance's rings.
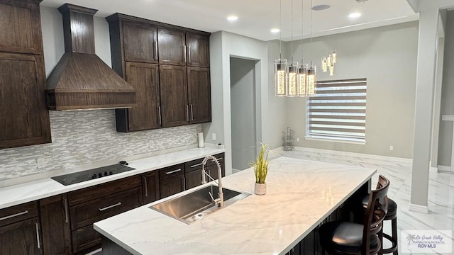
[[[379,177],[377,189],[371,191],[363,224],[328,222],[319,229],[323,254],[369,255],[382,249],[382,222],[387,214],[389,180]]]

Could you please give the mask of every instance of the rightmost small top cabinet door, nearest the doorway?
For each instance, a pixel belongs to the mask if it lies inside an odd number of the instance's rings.
[[[186,34],[188,67],[210,67],[209,44],[206,36]]]

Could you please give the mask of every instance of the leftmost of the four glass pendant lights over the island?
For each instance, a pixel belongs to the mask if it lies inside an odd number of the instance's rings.
[[[287,96],[287,60],[282,58],[282,0],[279,0],[279,58],[275,60],[275,96]]]

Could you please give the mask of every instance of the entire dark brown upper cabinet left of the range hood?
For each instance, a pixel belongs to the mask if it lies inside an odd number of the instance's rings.
[[[51,142],[39,3],[0,0],[0,149]]]

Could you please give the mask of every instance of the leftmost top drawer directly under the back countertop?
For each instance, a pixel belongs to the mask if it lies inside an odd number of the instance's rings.
[[[38,216],[36,201],[0,210],[0,227]]]

